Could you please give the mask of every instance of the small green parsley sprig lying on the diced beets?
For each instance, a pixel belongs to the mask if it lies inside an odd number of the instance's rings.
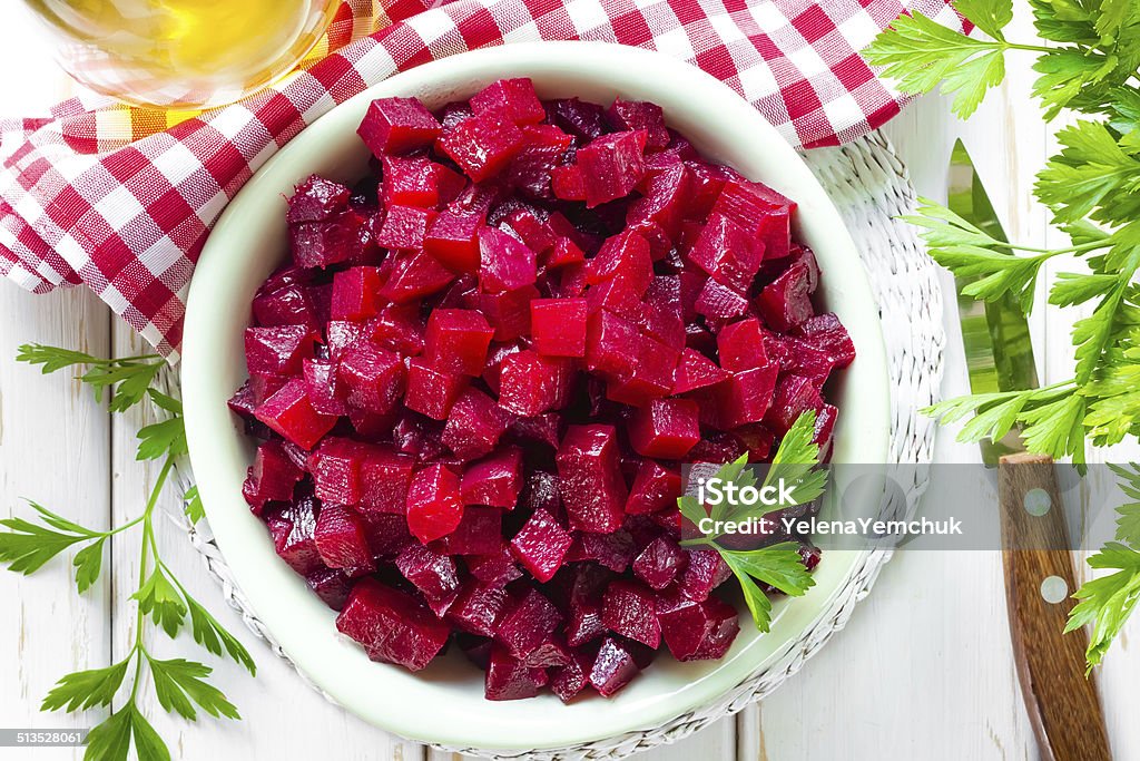
[[[813,443],[814,437],[815,413],[808,411],[796,420],[780,442],[760,488],[776,485],[783,479],[785,484],[795,487],[797,504],[807,504],[819,497],[826,487],[828,473],[816,468],[820,461],[820,447]],[[755,487],[756,473],[747,465],[748,455],[741,455],[738,460],[723,465],[715,478],[719,478],[723,483],[733,483],[740,488]],[[707,509],[691,494],[682,496],[677,504],[681,513],[698,529],[701,521],[708,518],[714,521],[746,523],[759,520],[773,510],[792,507],[785,504],[773,508],[722,500],[711,509]],[[767,632],[772,625],[772,600],[759,584],[767,584],[791,597],[801,597],[815,585],[815,580],[804,566],[795,542],[780,542],[756,550],[731,550],[718,542],[722,536],[723,534],[702,533],[701,536],[684,540],[682,544],[712,549],[720,553],[740,583],[744,602],[752,614],[756,628]]]

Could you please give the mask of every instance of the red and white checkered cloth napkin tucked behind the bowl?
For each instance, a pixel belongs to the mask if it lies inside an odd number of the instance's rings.
[[[961,29],[948,0],[427,3],[349,0],[319,60],[178,123],[91,96],[44,119],[0,122],[0,272],[38,293],[87,285],[174,361],[194,262],[226,203],[307,124],[393,72],[532,40],[656,48],[723,80],[789,143],[812,147],[898,113],[903,99],[857,51],[904,8]]]

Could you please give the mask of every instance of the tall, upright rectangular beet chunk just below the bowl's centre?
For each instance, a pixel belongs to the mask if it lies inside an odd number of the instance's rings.
[[[627,493],[613,426],[570,426],[559,446],[557,468],[571,528],[609,533],[621,526]]]

